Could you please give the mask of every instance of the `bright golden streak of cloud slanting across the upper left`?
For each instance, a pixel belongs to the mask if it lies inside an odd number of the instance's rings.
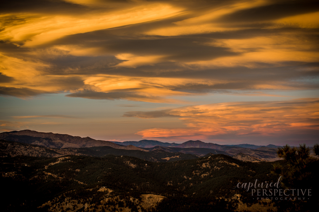
[[[36,46],[62,38],[67,35],[92,32],[124,25],[138,24],[146,21],[168,18],[177,15],[181,9],[169,4],[144,4],[124,10],[70,15],[43,14],[5,14],[8,17],[23,18],[19,25],[6,26],[0,39],[24,42],[24,46]]]

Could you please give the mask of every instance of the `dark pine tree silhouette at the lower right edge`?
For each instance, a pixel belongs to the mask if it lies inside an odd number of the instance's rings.
[[[311,189],[311,195],[306,201],[284,203],[281,209],[291,211],[311,211],[311,208],[318,207],[318,182],[319,179],[319,145],[313,146],[315,156],[310,155],[310,149],[305,144],[298,148],[285,145],[278,148],[278,156],[284,163],[275,163],[273,173],[283,176],[282,185],[287,189]]]

